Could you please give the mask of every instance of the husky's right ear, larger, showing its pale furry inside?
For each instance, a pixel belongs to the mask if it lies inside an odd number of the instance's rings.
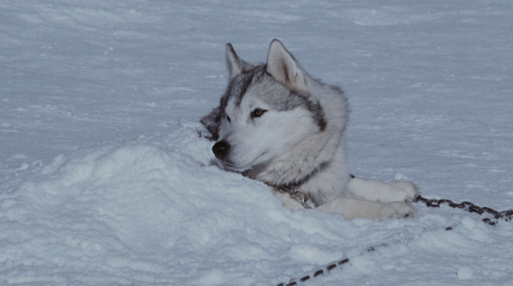
[[[269,46],[267,54],[266,71],[274,79],[283,83],[293,91],[307,91],[307,83],[304,81],[304,75],[287,48],[281,41],[274,39]]]

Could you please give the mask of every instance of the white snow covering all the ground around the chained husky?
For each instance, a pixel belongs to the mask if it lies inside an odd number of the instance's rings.
[[[513,285],[511,222],[286,210],[197,133],[226,42],[279,38],[349,95],[352,173],[511,209],[512,1],[83,2],[0,1],[0,285]]]

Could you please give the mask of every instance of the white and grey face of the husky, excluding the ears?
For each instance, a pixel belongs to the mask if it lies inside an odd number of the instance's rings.
[[[238,80],[244,80],[244,76],[234,78]],[[226,168],[243,171],[268,165],[286,156],[307,135],[308,126],[315,126],[312,116],[301,106],[279,106],[272,101],[277,93],[289,91],[268,81],[271,79],[253,79],[243,96],[229,93],[226,106],[221,106],[219,141],[212,151]],[[297,128],[298,124],[307,128]]]

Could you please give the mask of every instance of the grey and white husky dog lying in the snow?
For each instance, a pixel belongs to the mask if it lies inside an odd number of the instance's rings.
[[[226,44],[226,68],[226,93],[201,119],[223,168],[271,185],[292,210],[372,220],[414,215],[408,203],[419,194],[414,184],[349,175],[344,92],[312,78],[279,40],[260,65],[243,61]]]

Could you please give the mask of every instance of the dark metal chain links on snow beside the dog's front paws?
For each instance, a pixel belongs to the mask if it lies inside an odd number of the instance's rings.
[[[492,221],[489,218],[482,219],[482,221],[484,223],[487,223],[489,225],[496,225],[497,223],[499,223],[497,221],[499,219],[502,219],[504,221],[510,221],[513,218],[513,210],[504,210],[502,212],[498,212],[497,210],[494,210],[492,208],[478,207],[477,205],[474,205],[473,203],[469,203],[469,202],[454,203],[452,200],[427,199],[427,198],[422,197],[422,195],[417,195],[417,197],[414,198],[412,201],[414,203],[422,201],[422,202],[426,203],[426,205],[430,208],[440,208],[440,204],[447,203],[449,205],[449,207],[451,207],[451,208],[461,208],[463,210],[466,210],[469,213],[479,213],[479,215],[482,215],[483,213],[489,213],[490,215],[493,215],[495,221]]]

